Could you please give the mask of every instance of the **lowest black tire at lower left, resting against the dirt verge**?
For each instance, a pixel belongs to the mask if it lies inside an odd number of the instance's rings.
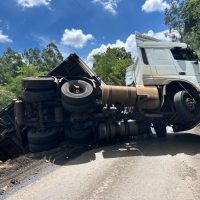
[[[28,147],[29,147],[30,152],[37,153],[37,152],[48,151],[50,149],[53,149],[58,146],[58,143],[59,141],[55,140],[49,144],[43,144],[43,145],[29,144]]]

